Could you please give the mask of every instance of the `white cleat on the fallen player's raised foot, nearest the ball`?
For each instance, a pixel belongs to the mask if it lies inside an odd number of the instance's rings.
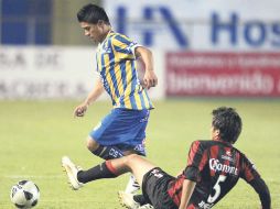
[[[74,190],[78,190],[80,187],[84,186],[84,184],[79,183],[77,179],[77,173],[79,170],[82,170],[82,168],[76,166],[74,163],[72,163],[69,157],[67,157],[67,156],[62,157],[62,166],[64,167],[65,172],[67,173],[71,187]]]

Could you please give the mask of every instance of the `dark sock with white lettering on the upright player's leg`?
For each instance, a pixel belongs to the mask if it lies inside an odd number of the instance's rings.
[[[116,146],[103,146],[99,145],[93,153],[104,160],[119,158],[123,156],[122,151]]]

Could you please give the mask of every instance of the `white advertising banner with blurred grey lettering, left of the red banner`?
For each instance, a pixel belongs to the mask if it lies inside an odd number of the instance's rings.
[[[161,78],[163,61],[157,63]],[[97,78],[95,67],[93,47],[1,47],[0,99],[86,98]],[[152,88],[150,95],[161,98],[164,89]],[[100,99],[109,97],[104,94]]]

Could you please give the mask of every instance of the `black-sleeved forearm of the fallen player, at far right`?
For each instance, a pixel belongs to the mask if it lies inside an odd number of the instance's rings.
[[[271,208],[271,198],[268,186],[262,178],[256,178],[249,182],[256,193],[259,195],[262,209]]]

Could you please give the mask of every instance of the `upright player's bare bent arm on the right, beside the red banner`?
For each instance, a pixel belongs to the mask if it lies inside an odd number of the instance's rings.
[[[144,63],[144,87],[155,87],[158,85],[158,77],[153,70],[153,56],[152,52],[143,46],[138,46],[136,48],[136,56],[140,57],[142,62]]]

